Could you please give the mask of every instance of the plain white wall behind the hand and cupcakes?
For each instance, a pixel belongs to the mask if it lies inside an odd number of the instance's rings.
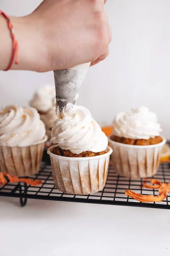
[[[0,0],[0,8],[26,15],[40,2]],[[170,138],[170,1],[108,0],[105,10],[113,32],[110,56],[90,68],[77,104],[88,107],[100,124],[111,124],[119,111],[146,105]],[[52,72],[1,72],[0,106],[26,105],[45,83],[54,83]]]

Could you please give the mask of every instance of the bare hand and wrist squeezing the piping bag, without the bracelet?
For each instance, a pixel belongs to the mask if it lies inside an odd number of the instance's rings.
[[[106,58],[111,28],[104,3],[44,0],[30,15],[11,17],[20,52],[12,69],[46,72]]]

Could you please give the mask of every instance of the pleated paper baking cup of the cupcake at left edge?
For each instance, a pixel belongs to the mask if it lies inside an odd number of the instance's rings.
[[[37,173],[46,140],[47,136],[41,142],[26,147],[0,146],[0,171],[17,177]]]

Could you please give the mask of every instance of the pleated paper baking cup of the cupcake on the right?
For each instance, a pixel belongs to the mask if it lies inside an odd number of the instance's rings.
[[[128,145],[118,143],[108,138],[113,149],[111,160],[115,171],[125,177],[134,179],[151,177],[156,174],[161,157],[161,151],[166,143],[163,141],[155,145]]]

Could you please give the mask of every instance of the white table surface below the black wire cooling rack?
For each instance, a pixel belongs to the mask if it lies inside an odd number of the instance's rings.
[[[170,255],[170,210],[0,197],[0,256]]]

